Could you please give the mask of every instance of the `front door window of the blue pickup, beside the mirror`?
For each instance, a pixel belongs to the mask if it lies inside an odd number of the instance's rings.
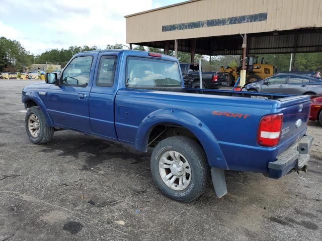
[[[92,62],[92,56],[74,58],[64,69],[61,83],[64,85],[86,87],[90,79]]]

